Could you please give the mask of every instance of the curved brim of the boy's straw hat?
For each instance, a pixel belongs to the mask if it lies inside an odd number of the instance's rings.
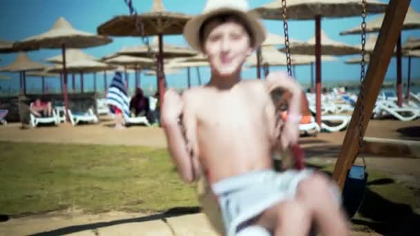
[[[243,19],[249,30],[251,30],[251,37],[254,38],[254,49],[258,48],[263,41],[265,41],[266,30],[262,25],[262,22],[258,19],[258,15],[254,12],[244,12],[241,10],[233,8],[218,8],[217,10],[212,10],[205,12],[196,17],[190,19],[187,24],[184,26],[184,38],[187,40],[187,43],[194,50],[202,52],[202,43],[200,42],[200,28],[202,24],[212,17],[217,17],[220,14],[233,14],[240,19]]]

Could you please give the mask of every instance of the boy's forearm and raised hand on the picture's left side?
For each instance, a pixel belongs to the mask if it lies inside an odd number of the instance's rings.
[[[178,122],[183,110],[180,95],[173,90],[165,93],[165,102],[162,107],[162,126],[166,134],[169,153],[178,168],[178,174],[184,181],[194,180],[193,164],[187,151],[187,143]]]

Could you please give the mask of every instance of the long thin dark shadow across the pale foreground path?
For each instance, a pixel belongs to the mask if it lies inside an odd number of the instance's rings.
[[[188,215],[193,213],[199,213],[200,208],[198,206],[195,207],[177,207],[171,208],[166,210],[164,213],[158,213],[155,215],[149,215],[145,217],[137,217],[137,218],[130,218],[130,219],[118,219],[111,222],[97,222],[92,224],[79,224],[77,226],[67,226],[64,228],[57,228],[55,230],[50,230],[41,233],[32,234],[32,236],[52,236],[52,235],[66,235],[70,233],[77,233],[84,230],[95,230],[97,228],[103,228],[107,226],[115,226],[118,224],[128,224],[128,223],[139,223],[139,222],[149,222],[157,219],[161,219],[162,221],[166,221],[165,218],[167,217],[174,217],[180,215]]]

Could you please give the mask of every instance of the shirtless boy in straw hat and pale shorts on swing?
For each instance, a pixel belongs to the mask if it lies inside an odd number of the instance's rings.
[[[312,223],[323,235],[348,235],[326,177],[273,170],[278,137],[282,148],[298,142],[301,88],[280,72],[241,81],[242,64],[265,40],[265,28],[247,8],[243,0],[208,1],[184,28],[187,42],[207,55],[211,80],[182,97],[165,94],[161,119],[173,161],[187,182],[204,171],[227,235],[307,235]],[[277,88],[292,93],[287,121],[278,125],[270,97]]]

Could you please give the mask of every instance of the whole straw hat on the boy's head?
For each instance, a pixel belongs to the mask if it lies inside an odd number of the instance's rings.
[[[202,52],[202,43],[200,42],[200,28],[202,24],[220,14],[235,14],[240,19],[243,19],[251,30],[251,37],[254,37],[254,48],[258,48],[265,40],[266,31],[258,15],[253,12],[248,12],[249,4],[245,0],[207,0],[203,13],[190,19],[184,27],[184,37],[189,45],[200,52]]]

